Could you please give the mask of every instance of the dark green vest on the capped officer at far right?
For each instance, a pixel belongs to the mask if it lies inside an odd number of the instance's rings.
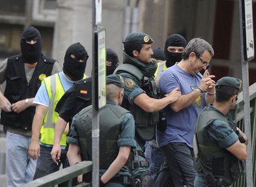
[[[232,128],[229,119],[220,111],[209,107],[203,109],[197,121],[198,159],[195,169],[205,175],[210,172],[215,178],[222,178],[223,185],[231,185],[242,174],[244,163],[208,138],[207,126],[215,119],[220,119]]]

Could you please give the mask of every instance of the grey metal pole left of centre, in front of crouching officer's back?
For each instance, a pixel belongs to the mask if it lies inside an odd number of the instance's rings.
[[[98,187],[99,186],[99,173],[100,173],[100,151],[99,151],[99,141],[100,141],[100,118],[98,109],[96,107],[96,72],[95,67],[95,31],[97,30],[97,26],[95,25],[95,18],[96,18],[96,7],[95,7],[95,0],[92,0],[92,109],[93,109],[93,117],[92,117],[92,161],[93,161],[93,171],[92,171],[92,186]]]

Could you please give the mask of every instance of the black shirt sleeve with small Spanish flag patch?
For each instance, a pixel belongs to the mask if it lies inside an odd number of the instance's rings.
[[[75,82],[59,100],[55,111],[71,124],[72,118],[83,108],[92,105],[92,78]]]

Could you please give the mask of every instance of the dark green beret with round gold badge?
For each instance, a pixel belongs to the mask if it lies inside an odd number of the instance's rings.
[[[132,42],[136,44],[151,44],[153,39],[146,33],[130,33],[126,36],[123,43]]]

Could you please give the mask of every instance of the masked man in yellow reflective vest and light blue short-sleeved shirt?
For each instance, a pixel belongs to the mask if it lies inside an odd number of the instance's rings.
[[[64,167],[68,165],[66,162],[66,135],[68,130],[61,137],[61,148],[63,150],[61,159],[57,164],[51,159],[54,127],[58,119],[58,113],[54,109],[66,90],[75,81],[84,77],[87,58],[87,51],[79,42],[69,46],[64,58],[63,71],[46,78],[35,96],[36,114],[32,126],[32,143],[30,143],[28,151],[32,159],[37,157],[34,179],[56,172],[59,170],[61,162]],[[40,141],[39,137],[41,137]]]

